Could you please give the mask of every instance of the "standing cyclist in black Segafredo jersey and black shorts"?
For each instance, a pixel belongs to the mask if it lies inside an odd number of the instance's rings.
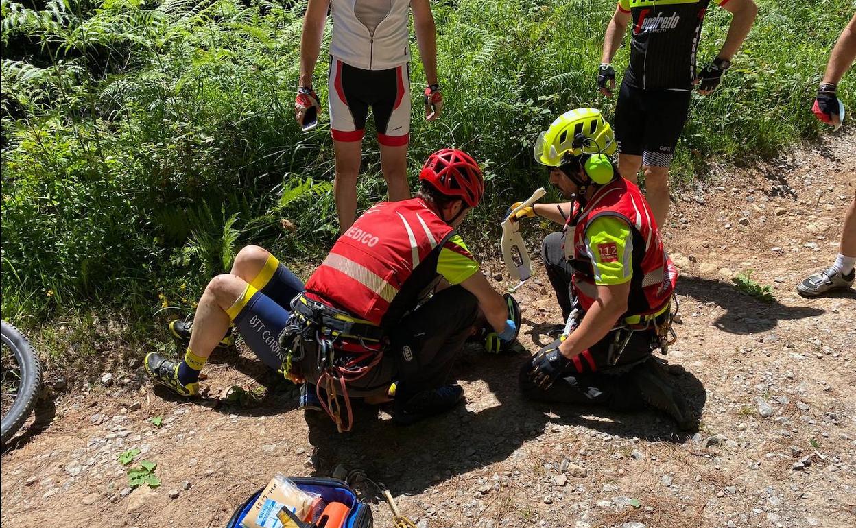
[[[716,90],[758,14],[752,0],[714,2],[734,17],[722,50],[699,74],[696,49],[710,0],[619,0],[603,39],[597,86],[612,97],[610,62],[633,20],[630,65],[615,108],[618,169],[633,183],[639,168],[645,169],[646,198],[661,227],[669,215],[669,165],[687,122],[693,85],[703,95]]]

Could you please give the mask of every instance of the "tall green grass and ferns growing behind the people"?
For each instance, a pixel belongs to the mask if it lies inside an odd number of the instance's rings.
[[[693,96],[678,179],[819,130],[809,102],[853,6],[758,3],[722,88]],[[162,304],[190,308],[241,245],[287,262],[324,253],[337,233],[329,127],[300,133],[292,110],[305,8],[3,0],[4,318],[40,321],[75,306],[151,317]],[[593,84],[614,9],[594,0],[434,6],[447,104],[436,123],[414,104],[409,169],[415,181],[426,155],[446,145],[485,164],[487,199],[465,228],[472,240],[490,242],[487,226],[508,203],[544,185],[532,141],[554,116],[591,105],[611,119],[614,100]],[[729,20],[712,9],[699,62],[715,55]],[[626,63],[627,46],[615,59]],[[326,68],[322,54],[322,98]],[[418,97],[418,58],[412,68]],[[845,83],[841,97],[856,104],[852,95]],[[385,193],[372,133],[363,171],[366,206]]]

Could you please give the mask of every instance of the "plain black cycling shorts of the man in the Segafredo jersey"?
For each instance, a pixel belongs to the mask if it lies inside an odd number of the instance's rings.
[[[691,92],[642,90],[621,82],[615,139],[621,154],[641,156],[649,167],[669,167],[690,109]]]

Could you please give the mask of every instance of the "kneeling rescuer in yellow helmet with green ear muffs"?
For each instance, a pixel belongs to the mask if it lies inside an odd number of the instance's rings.
[[[570,201],[515,216],[565,226],[544,239],[542,257],[566,324],[523,366],[521,389],[534,400],[615,410],[647,404],[692,428],[692,409],[651,355],[672,341],[677,270],[639,187],[616,174],[614,152],[609,123],[595,109],[563,114],[538,138],[536,160]]]

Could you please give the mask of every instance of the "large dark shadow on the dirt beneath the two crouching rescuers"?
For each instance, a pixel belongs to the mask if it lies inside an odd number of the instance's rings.
[[[464,354],[455,375],[460,380],[484,380],[498,400],[498,405],[478,411],[458,406],[447,414],[401,427],[376,407],[364,406],[355,409],[356,424],[347,434],[338,434],[324,413],[307,412],[309,442],[315,447],[314,474],[330,476],[342,464],[349,470],[366,471],[396,495],[416,494],[455,475],[501,460],[514,460],[518,466],[544,463],[547,460],[532,458],[532,454],[519,449],[558,424],[582,425],[613,436],[651,441],[684,442],[691,435],[679,433],[670,418],[656,412],[624,414],[595,406],[524,400],[517,376],[525,360],[525,353],[489,358],[484,353]],[[689,373],[678,377],[676,383],[700,415],[706,400],[702,383]],[[479,396],[479,401],[485,400],[490,398]],[[556,457],[561,459],[560,454]]]

